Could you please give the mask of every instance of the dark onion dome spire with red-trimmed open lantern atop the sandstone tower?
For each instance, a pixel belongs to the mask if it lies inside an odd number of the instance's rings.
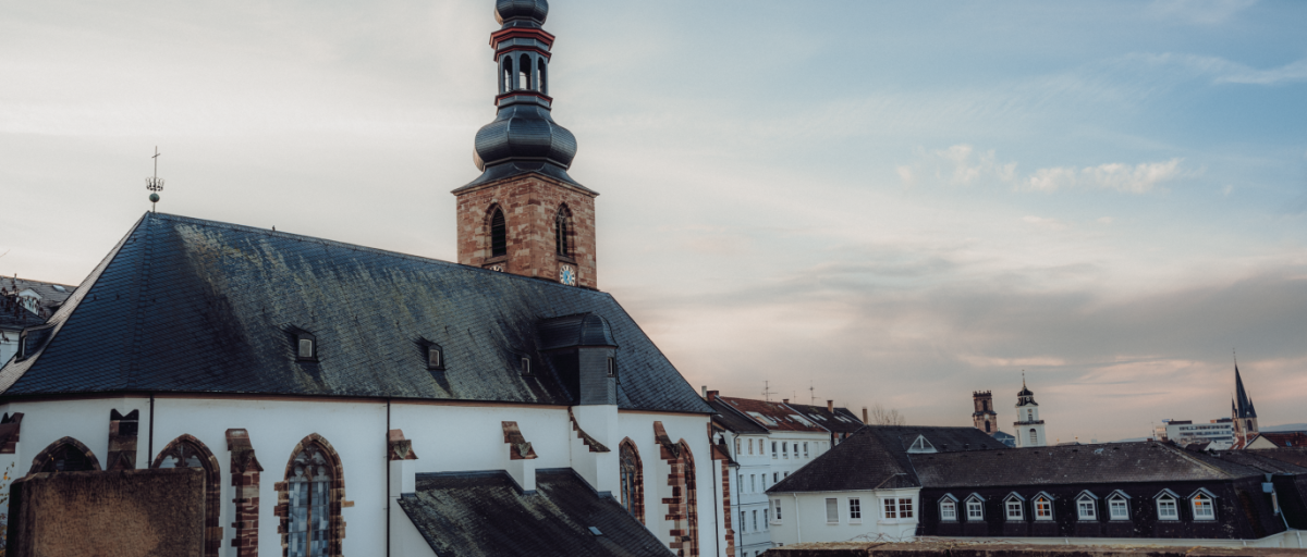
[[[576,137],[549,113],[554,100],[549,97],[554,35],[541,29],[549,3],[498,0],[494,14],[502,25],[490,34],[498,68],[498,112],[477,132],[473,162],[482,172],[464,188],[531,172],[580,187],[567,175],[576,155]]]

